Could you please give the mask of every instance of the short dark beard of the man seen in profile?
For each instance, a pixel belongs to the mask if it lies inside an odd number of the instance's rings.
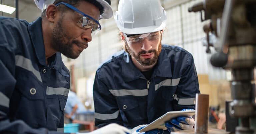
[[[79,43],[79,41],[71,40],[71,37],[67,35],[67,31],[63,29],[62,17],[57,22],[57,26],[53,28],[52,32],[52,47],[56,51],[62,53],[68,58],[76,59],[80,53],[73,53],[72,45]]]

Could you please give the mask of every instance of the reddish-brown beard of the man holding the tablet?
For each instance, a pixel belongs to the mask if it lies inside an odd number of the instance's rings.
[[[149,50],[149,51],[142,50],[138,53],[138,55],[136,55],[135,52],[131,50],[131,48],[129,47],[126,41],[125,41],[125,47],[127,48],[127,51],[129,52],[129,54],[137,61],[137,63],[139,63],[141,66],[150,66],[156,63],[158,60],[158,57],[162,49],[161,41],[162,41],[162,37],[161,37],[160,43],[158,44],[158,50]],[[153,58],[144,59],[144,61],[142,58],[140,58],[141,54],[152,53],[152,52],[154,53]]]

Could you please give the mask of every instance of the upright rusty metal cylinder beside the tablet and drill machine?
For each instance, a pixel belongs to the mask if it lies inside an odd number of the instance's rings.
[[[209,95],[196,94],[195,133],[208,133]]]

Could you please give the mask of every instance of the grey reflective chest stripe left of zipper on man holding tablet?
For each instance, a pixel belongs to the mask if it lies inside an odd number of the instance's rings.
[[[114,96],[146,96],[148,95],[148,89],[118,89],[118,90],[109,90],[110,93]]]

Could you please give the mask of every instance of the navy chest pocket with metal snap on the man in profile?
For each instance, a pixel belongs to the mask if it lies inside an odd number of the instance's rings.
[[[16,69],[16,85],[10,109],[14,119],[22,119],[29,126],[45,126],[45,89],[42,83],[30,71]]]

